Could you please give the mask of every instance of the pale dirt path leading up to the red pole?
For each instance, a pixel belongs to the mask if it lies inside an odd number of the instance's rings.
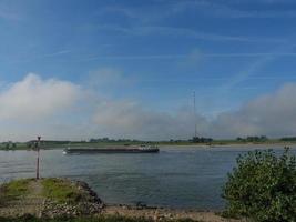
[[[0,208],[0,215],[16,216],[29,213],[39,216],[43,203],[42,184],[40,181],[32,180],[29,183],[28,194],[18,200],[10,201],[3,208]]]

